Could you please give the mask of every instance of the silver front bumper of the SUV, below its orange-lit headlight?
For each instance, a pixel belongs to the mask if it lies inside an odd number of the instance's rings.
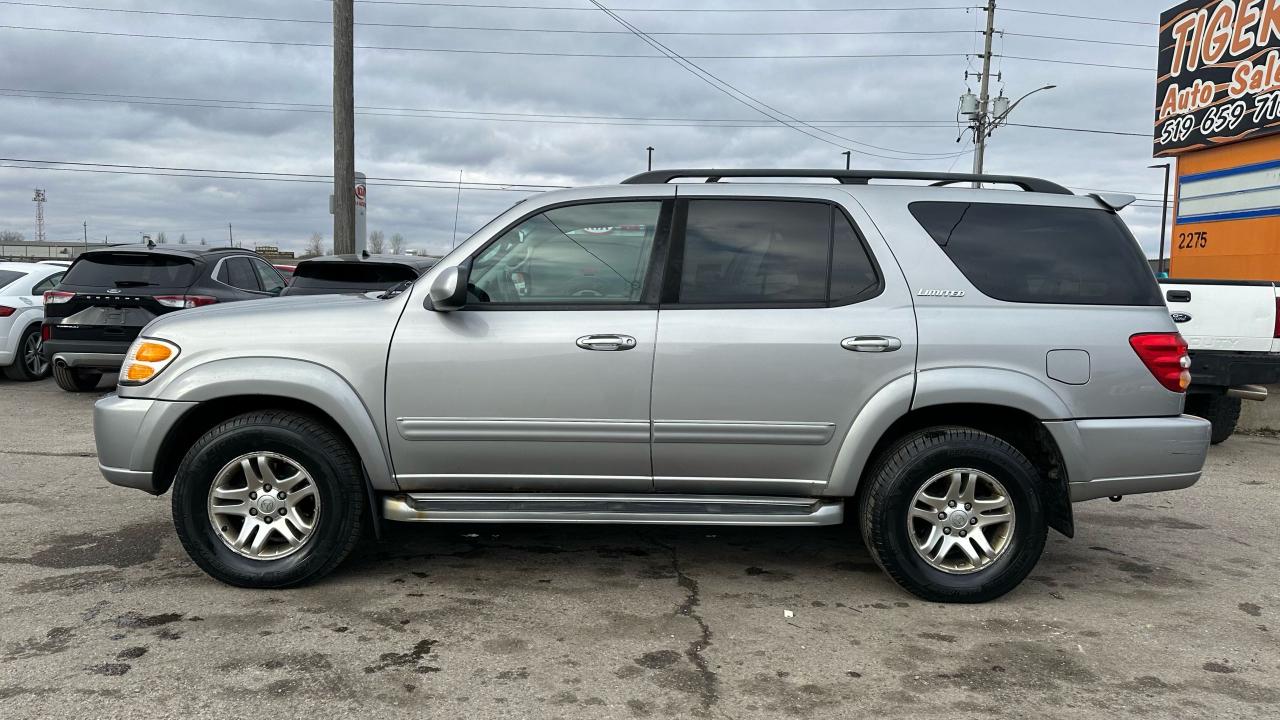
[[[160,486],[152,471],[156,457],[169,430],[195,406],[116,395],[99,400],[93,405],[93,442],[102,477],[111,484],[151,495],[168,489],[168,483]]]

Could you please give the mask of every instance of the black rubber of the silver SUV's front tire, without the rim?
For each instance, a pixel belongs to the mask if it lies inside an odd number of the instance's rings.
[[[316,486],[320,514],[297,552],[255,560],[230,550],[210,521],[209,492],[219,470],[250,452],[275,452],[298,462]],[[178,539],[201,570],[230,585],[301,585],[337,568],[361,537],[365,480],[346,439],[296,413],[262,410],[232,418],[205,433],[183,457],[173,484]]]

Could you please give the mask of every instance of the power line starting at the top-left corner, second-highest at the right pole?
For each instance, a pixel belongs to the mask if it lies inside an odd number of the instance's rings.
[[[264,15],[225,15],[215,13],[182,13],[177,10],[141,10],[136,8],[99,8],[92,5],[59,5],[52,3],[28,3],[23,0],[0,0],[0,5],[19,5],[26,8],[49,8],[58,10],[88,10],[95,13],[118,13],[134,15],[165,15],[179,18],[204,18],[220,20],[257,20],[271,23],[307,23],[330,24],[330,19],[311,18],[271,18]],[[545,32],[568,35],[631,35],[625,29],[576,29],[576,28],[538,28],[538,27],[490,27],[490,26],[449,26],[449,24],[421,24],[421,23],[376,23],[356,22],[362,27],[384,28],[410,28],[410,29],[449,29],[449,31],[476,31],[476,32]],[[881,35],[968,35],[968,29],[884,29],[884,31],[764,31],[764,32],[709,32],[709,31],[672,31],[652,32],[654,36],[710,36],[710,37],[756,37],[756,36],[881,36]]]

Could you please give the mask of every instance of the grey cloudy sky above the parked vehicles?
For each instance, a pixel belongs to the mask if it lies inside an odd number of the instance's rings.
[[[736,102],[589,0],[357,0],[356,165],[393,178],[370,182],[369,229],[438,251],[452,242],[456,209],[461,238],[527,195],[476,183],[612,183],[643,170],[650,145],[655,167],[844,167],[845,149],[865,168],[972,164],[956,155],[972,150],[956,142],[956,102],[977,90],[965,79],[980,67],[974,1],[603,4],[823,129],[782,127]],[[1139,195],[1125,218],[1151,255],[1162,183],[1148,169],[1156,20],[1171,4],[1078,0],[1065,10],[1103,20],[1002,0],[996,23],[993,94],[1057,86],[1011,122],[1107,133],[1005,127],[987,170]],[[712,8],[732,10],[689,12]],[[42,187],[50,240],[79,238],[87,222],[95,242],[161,231],[225,242],[228,223],[246,246],[298,250],[315,232],[328,241],[329,18],[326,0],[0,1],[0,229],[33,238],[32,188]],[[733,58],[707,58],[717,55]]]

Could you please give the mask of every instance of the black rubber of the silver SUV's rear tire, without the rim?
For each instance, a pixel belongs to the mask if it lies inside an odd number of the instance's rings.
[[[988,566],[951,574],[915,551],[908,511],[916,491],[945,470],[972,468],[998,478],[1014,506],[1007,548]],[[1047,524],[1038,474],[1007,442],[972,428],[938,427],[895,442],[874,461],[859,518],[872,559],[908,592],[931,602],[986,602],[1018,587],[1044,550]]]

